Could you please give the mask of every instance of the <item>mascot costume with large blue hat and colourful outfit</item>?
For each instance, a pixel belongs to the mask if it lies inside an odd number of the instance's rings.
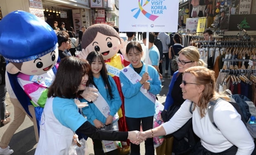
[[[46,88],[55,79],[57,42],[57,36],[51,26],[28,12],[14,11],[0,21],[0,54],[7,61],[9,83],[17,97],[12,99],[12,102],[20,103],[24,108],[18,115],[14,105],[14,122],[19,122],[15,127],[12,123],[9,127],[17,130],[26,113],[33,120],[37,141],[40,115],[47,99]],[[18,118],[21,115],[23,120]],[[8,130],[9,128],[6,132]],[[12,136],[9,136],[9,141],[11,138]]]

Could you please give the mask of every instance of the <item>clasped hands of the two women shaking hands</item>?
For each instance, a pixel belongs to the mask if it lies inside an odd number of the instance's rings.
[[[143,141],[147,140],[146,133],[145,132],[139,132],[139,131],[131,131],[128,132],[128,139],[130,140],[131,143],[139,145]]]

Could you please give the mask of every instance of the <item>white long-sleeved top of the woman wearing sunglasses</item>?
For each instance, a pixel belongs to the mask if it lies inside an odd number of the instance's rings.
[[[193,131],[207,150],[218,153],[235,145],[236,155],[251,155],[254,141],[230,103],[220,101],[214,106],[213,119],[219,130],[211,123],[208,113],[201,118],[198,107],[191,114],[190,104],[191,101],[186,100],[171,120],[163,124],[166,134],[175,132],[192,117]]]

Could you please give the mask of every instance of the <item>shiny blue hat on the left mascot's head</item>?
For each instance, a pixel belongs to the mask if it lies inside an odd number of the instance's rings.
[[[0,54],[10,62],[37,59],[57,48],[51,26],[37,16],[14,11],[0,21]]]

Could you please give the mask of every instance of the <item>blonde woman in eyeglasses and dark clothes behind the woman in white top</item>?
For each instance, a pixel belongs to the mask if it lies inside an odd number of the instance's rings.
[[[197,47],[194,46],[185,47],[180,50],[179,56],[177,58],[178,70],[173,74],[171,79],[169,91],[166,96],[164,110],[161,113],[164,122],[170,120],[170,118],[176,113],[176,111],[185,101],[185,99],[183,99],[182,90],[180,88],[183,72],[192,66],[205,65],[204,61],[199,60],[199,56],[199,51]],[[186,141],[184,137],[188,141]],[[175,154],[187,155],[187,153],[189,153],[192,149],[192,143],[198,140],[199,139],[194,135],[192,131],[192,124],[190,120],[178,132],[166,136],[166,146],[168,147],[165,147],[165,144],[160,146],[166,149],[160,148],[157,150],[161,150],[159,154],[166,153],[168,155],[172,151]],[[173,148],[170,146],[173,146]]]

